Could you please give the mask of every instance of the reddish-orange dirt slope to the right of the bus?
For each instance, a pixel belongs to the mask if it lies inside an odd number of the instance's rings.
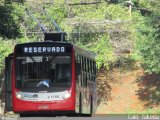
[[[160,113],[160,99],[151,98],[151,96],[155,96],[154,92],[160,91],[156,83],[158,81],[159,84],[159,78],[159,75],[156,74],[146,75],[143,69],[128,72],[121,72],[115,69],[105,83],[110,88],[110,91],[108,91],[110,93],[107,93],[109,98],[106,99],[105,103],[101,102],[99,104],[96,114]],[[154,91],[147,90],[149,87],[154,88]],[[155,99],[158,99],[157,103],[151,102]]]

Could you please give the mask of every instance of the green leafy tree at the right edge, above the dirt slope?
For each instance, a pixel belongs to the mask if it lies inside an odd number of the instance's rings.
[[[148,2],[151,14],[145,16],[145,22],[140,25],[137,46],[143,58],[143,66],[148,73],[160,73],[160,12],[158,1]],[[143,6],[143,4],[142,4]]]

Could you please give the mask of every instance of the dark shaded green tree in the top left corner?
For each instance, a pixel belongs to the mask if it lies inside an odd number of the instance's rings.
[[[0,35],[3,38],[15,39],[21,36],[20,19],[22,19],[22,11],[20,11],[17,3],[0,4]]]

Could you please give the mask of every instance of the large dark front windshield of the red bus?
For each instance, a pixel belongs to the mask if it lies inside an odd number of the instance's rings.
[[[16,88],[71,86],[70,56],[19,56],[16,58]]]

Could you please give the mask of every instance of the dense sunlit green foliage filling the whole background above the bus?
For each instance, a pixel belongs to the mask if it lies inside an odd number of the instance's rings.
[[[68,33],[70,42],[97,54],[98,68],[110,69],[111,65],[118,61],[123,63],[127,58],[141,62],[147,72],[160,72],[160,2],[132,0],[130,16],[126,0],[101,0],[97,4],[83,5],[86,1],[71,0],[68,3],[59,0],[50,4],[44,1],[1,1],[1,69],[4,57],[12,51],[14,44],[43,38],[42,34],[33,33],[41,32],[41,29],[26,14],[25,8],[29,8],[48,31],[56,31],[52,20],[43,11],[45,8],[62,31]]]

